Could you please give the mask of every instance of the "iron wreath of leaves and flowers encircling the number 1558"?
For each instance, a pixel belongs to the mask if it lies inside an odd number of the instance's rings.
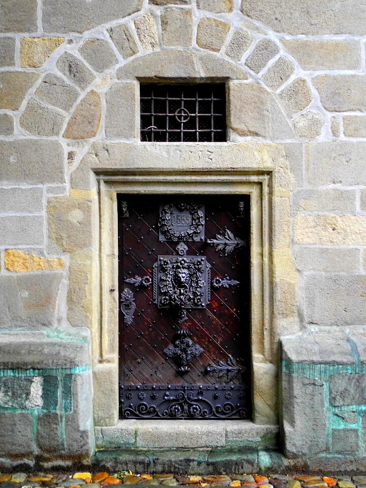
[[[179,208],[179,210],[187,209],[192,215],[192,225],[188,230],[185,230],[184,232],[175,232],[171,224],[170,218],[174,206]],[[192,237],[193,240],[195,240],[204,225],[204,216],[203,212],[199,210],[200,207],[201,205],[198,203],[185,202],[169,203],[167,205],[164,205],[163,210],[160,212],[158,225],[161,232],[165,235],[165,238],[167,240],[173,241],[184,241],[189,240]]]

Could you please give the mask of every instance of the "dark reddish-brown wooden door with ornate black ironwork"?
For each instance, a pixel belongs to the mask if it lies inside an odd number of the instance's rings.
[[[122,418],[248,418],[249,196],[118,195]]]

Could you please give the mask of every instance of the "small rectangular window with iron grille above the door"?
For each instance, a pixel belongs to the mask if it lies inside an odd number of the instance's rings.
[[[225,84],[140,85],[141,141],[226,141]]]

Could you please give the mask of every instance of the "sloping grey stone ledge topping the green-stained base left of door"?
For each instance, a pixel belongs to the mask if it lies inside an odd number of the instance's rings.
[[[52,277],[54,275],[55,273]],[[47,288],[47,285],[51,284],[49,275],[42,273],[40,279],[43,276],[46,277],[44,286]],[[16,280],[15,277],[11,278]],[[20,286],[24,278],[25,276],[18,278]],[[40,330],[0,332],[0,366],[4,369],[88,367],[89,335],[89,330],[83,327],[56,327],[45,332]],[[54,405],[54,399],[48,397],[56,396],[57,399],[57,381],[52,383],[46,381],[47,378],[56,377],[44,377],[43,382],[44,404],[46,406],[48,403],[48,408],[52,409],[57,403]]]

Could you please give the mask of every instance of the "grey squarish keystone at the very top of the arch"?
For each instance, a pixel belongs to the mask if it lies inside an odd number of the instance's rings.
[[[192,11],[166,9],[160,15],[164,46],[192,46]]]

